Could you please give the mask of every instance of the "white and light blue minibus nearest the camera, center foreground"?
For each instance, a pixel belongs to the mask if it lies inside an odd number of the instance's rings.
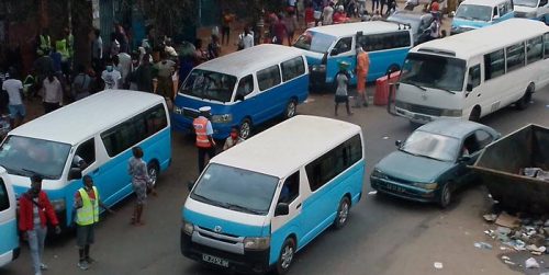
[[[184,203],[181,252],[228,271],[285,273],[296,251],[344,227],[365,168],[360,126],[280,123],[210,161]]]

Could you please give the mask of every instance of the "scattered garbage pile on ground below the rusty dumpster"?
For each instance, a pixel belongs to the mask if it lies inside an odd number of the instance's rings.
[[[533,255],[549,254],[549,218],[518,216],[505,211],[486,214],[483,218],[497,227],[486,230],[485,234],[516,251],[528,251]],[[485,247],[482,243],[475,247]],[[504,247],[502,247],[503,250]]]

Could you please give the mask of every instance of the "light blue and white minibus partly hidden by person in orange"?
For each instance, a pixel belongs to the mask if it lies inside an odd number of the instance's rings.
[[[396,22],[370,21],[312,27],[305,31],[295,44],[305,51],[311,66],[311,85],[320,88],[332,84],[338,72],[339,61],[355,68],[356,47],[361,46],[370,57],[367,81],[385,76],[388,70],[399,70],[414,45],[407,25]],[[351,84],[356,84],[356,78]]]

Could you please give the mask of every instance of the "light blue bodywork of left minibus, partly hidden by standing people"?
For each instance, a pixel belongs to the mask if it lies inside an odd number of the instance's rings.
[[[168,169],[171,160],[171,129],[170,127],[156,133],[141,144],[145,156],[145,162],[153,159],[158,160],[160,172]],[[132,157],[132,148],[126,149],[115,158],[107,161],[98,169],[88,174],[93,177],[93,183],[99,190],[101,200],[107,206],[112,206],[133,193],[132,183],[127,173],[127,161]],[[65,199],[66,225],[70,225],[72,218],[72,205],[75,204],[75,194],[82,187],[81,180],[75,180],[60,190],[44,190],[49,200]],[[29,187],[13,185],[15,194],[21,196]],[[101,211],[104,209],[101,208]],[[61,218],[61,217],[58,217]]]

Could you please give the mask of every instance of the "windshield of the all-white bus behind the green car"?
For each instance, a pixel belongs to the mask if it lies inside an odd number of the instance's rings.
[[[408,54],[402,67],[402,83],[440,89],[445,91],[462,91],[466,61],[462,59]]]

